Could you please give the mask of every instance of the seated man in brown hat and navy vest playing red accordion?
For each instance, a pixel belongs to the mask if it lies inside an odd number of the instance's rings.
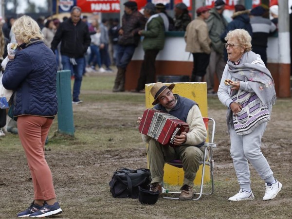
[[[154,109],[163,110],[183,120],[189,125],[189,132],[182,132],[174,139],[176,147],[162,146],[154,138],[142,134],[142,139],[148,143],[148,159],[152,177],[150,191],[162,191],[161,183],[164,175],[164,162],[179,159],[183,162],[183,187],[181,200],[193,198],[193,185],[200,162],[203,159],[203,142],[207,137],[201,111],[193,100],[173,94],[174,84],[169,86],[157,82],[150,92],[154,97]],[[138,118],[138,123],[142,120]]]

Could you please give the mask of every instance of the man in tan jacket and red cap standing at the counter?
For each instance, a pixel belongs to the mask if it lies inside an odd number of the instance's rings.
[[[209,64],[211,39],[205,22],[210,16],[209,10],[206,6],[199,7],[196,10],[197,18],[187,25],[184,34],[185,51],[193,54],[191,81],[201,82]]]

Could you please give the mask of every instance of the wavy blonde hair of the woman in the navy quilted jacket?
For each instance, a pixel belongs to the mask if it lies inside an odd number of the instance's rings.
[[[21,16],[14,22],[12,32],[17,40],[21,40],[24,43],[29,43],[31,39],[43,39],[44,37],[37,21],[26,15]]]

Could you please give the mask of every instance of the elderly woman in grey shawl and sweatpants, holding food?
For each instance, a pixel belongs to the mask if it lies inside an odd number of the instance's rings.
[[[246,30],[230,31],[225,37],[228,61],[219,85],[218,97],[227,110],[231,157],[240,186],[229,201],[254,200],[250,162],[265,182],[263,200],[274,199],[282,188],[260,150],[261,138],[276,101],[274,80],[259,55],[251,51]]]

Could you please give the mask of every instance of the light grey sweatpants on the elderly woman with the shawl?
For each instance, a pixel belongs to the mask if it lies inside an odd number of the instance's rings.
[[[248,162],[253,165],[261,179],[265,180],[265,183],[272,183],[274,181],[270,165],[260,150],[261,138],[266,130],[266,126],[267,123],[263,123],[247,135],[237,135],[235,130],[230,128],[230,153],[237,181],[243,190],[251,189]]]

